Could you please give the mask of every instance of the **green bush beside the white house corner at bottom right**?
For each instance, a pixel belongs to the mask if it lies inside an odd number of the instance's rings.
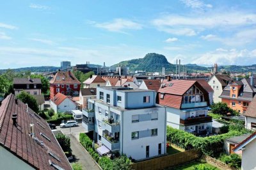
[[[231,153],[230,155],[221,154],[219,160],[221,162],[224,162],[225,164],[228,164],[229,166],[239,168],[241,167],[241,157],[237,155],[236,153]]]

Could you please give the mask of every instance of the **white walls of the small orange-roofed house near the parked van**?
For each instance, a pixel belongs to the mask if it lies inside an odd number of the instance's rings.
[[[69,98],[65,98],[61,104],[56,105],[51,100],[51,108],[54,110],[54,112],[70,112],[72,110],[77,109],[77,105],[72,102]]]

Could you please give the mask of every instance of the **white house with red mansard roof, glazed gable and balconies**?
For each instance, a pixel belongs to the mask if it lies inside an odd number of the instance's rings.
[[[166,106],[170,127],[196,135],[212,132],[212,118],[207,115],[209,94],[197,81],[165,81],[157,93],[157,104]]]

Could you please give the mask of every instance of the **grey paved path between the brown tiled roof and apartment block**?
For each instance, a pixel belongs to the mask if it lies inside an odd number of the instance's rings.
[[[72,155],[75,158],[74,162],[79,162],[84,170],[100,170],[92,157],[90,157],[90,154],[78,143],[76,137],[70,134],[67,135],[70,137]]]

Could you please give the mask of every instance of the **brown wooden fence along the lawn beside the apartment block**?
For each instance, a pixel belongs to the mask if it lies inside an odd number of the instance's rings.
[[[137,162],[131,164],[131,167],[135,170],[159,170],[165,169],[167,167],[177,166],[179,164],[184,164],[186,162],[190,162],[191,160],[196,160],[200,156],[201,152],[194,149],[175,153],[173,155],[165,155],[163,157]]]

